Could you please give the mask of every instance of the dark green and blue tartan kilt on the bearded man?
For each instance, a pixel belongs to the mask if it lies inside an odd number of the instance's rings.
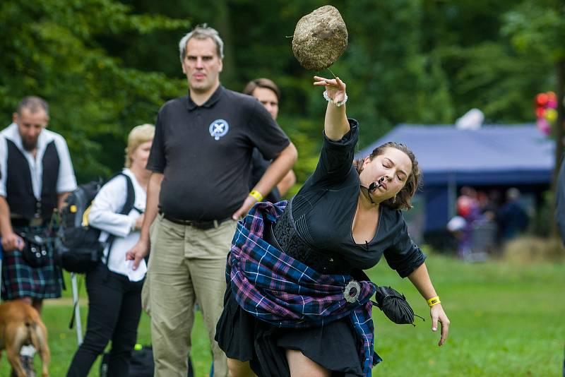
[[[21,251],[4,251],[2,263],[2,299],[21,297],[55,299],[61,297],[59,268],[54,263],[54,251],[49,250],[49,263],[32,268],[25,263]]]

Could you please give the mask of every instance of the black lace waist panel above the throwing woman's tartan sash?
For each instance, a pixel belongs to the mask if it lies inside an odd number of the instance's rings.
[[[281,215],[278,221],[273,225],[272,231],[267,233],[270,233],[269,235],[275,238],[276,244],[282,249],[281,251],[319,273],[350,273],[351,267],[343,257],[329,251],[314,250],[302,240],[296,232],[295,227],[292,225],[290,205],[287,206],[283,215]],[[273,244],[273,242],[269,243]]]

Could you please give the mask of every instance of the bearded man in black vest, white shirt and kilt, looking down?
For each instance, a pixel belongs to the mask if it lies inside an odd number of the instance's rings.
[[[49,105],[40,97],[25,97],[13,123],[0,134],[0,229],[5,300],[20,299],[41,313],[43,299],[61,297],[60,273],[54,251],[33,267],[25,260],[23,234],[49,236],[54,210],[76,188],[65,139],[47,130]],[[32,346],[22,348],[24,369],[32,375]]]

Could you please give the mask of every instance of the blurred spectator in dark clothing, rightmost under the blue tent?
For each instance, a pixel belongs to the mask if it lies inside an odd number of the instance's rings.
[[[502,241],[509,241],[525,232],[528,228],[528,213],[519,201],[518,188],[509,188],[506,191],[506,203],[499,210],[497,219],[501,227]]]

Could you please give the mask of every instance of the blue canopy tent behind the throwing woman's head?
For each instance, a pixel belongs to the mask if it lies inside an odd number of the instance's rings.
[[[454,215],[458,186],[549,184],[554,141],[533,124],[454,126],[400,124],[357,153],[366,157],[387,141],[405,143],[424,174],[426,232],[445,229]]]

